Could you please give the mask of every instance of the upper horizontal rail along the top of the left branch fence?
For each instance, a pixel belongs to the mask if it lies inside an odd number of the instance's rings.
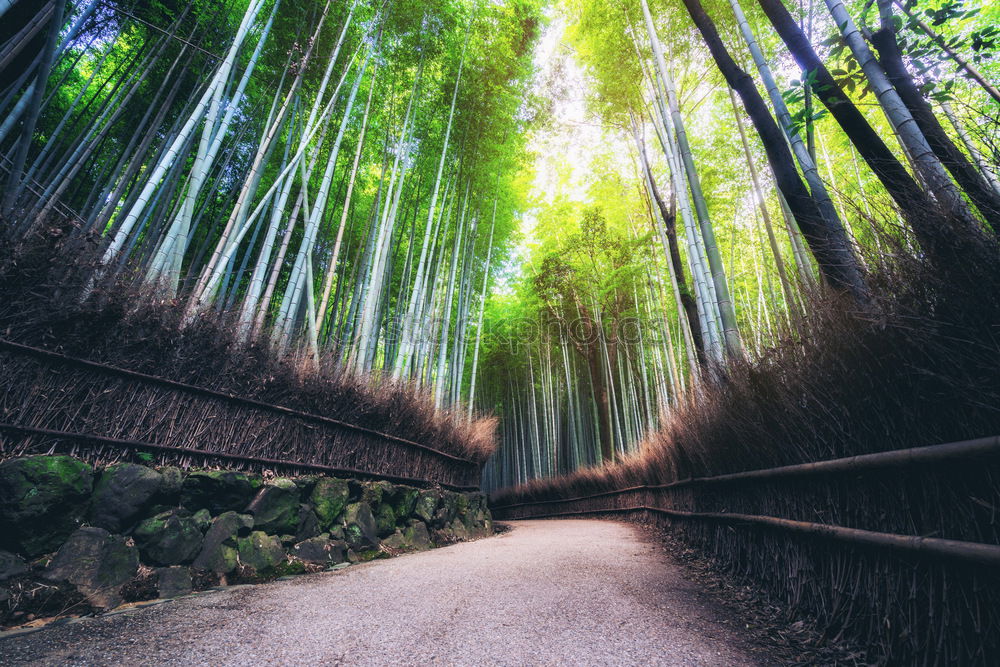
[[[406,438],[401,438],[397,435],[392,435],[390,433],[383,433],[382,431],[376,431],[374,429],[370,429],[364,426],[358,426],[357,424],[351,424],[350,422],[334,419],[333,417],[325,417],[323,415],[317,415],[311,412],[302,412],[301,410],[288,408],[282,405],[272,405],[271,403],[265,403],[263,401],[258,401],[252,398],[236,396],[234,394],[227,394],[225,392],[216,391],[214,389],[208,389],[206,387],[198,387],[196,385],[186,384],[184,382],[178,382],[176,380],[168,380],[167,378],[161,378],[156,375],[148,375],[146,373],[140,373],[139,371],[130,371],[125,368],[119,368],[117,366],[109,366],[107,364],[102,364],[97,361],[90,361],[89,359],[70,357],[68,355],[60,354],[58,352],[52,352],[51,350],[44,350],[41,348],[32,347],[30,345],[24,345],[22,343],[15,343],[14,341],[7,340],[5,338],[0,338],[0,348],[10,350],[12,352],[19,352],[22,354],[38,357],[41,359],[57,361],[59,363],[67,365],[79,366],[81,368],[89,368],[92,370],[101,371],[111,375],[118,375],[133,380],[140,380],[142,382],[159,384],[164,387],[178,389],[180,391],[184,391],[189,394],[199,394],[201,396],[216,398],[223,401],[228,401],[230,403],[235,403],[237,405],[243,405],[252,408],[258,408],[261,410],[268,410],[270,412],[276,412],[279,414],[289,415],[292,417],[298,417],[299,419],[304,419],[311,422],[326,424],[329,426],[339,426],[341,428],[357,431],[359,433],[365,433],[367,435],[372,435],[375,437],[383,438],[385,440],[390,440],[392,442],[397,442],[407,447],[422,449],[426,452],[430,452],[432,454],[435,454],[442,458],[449,459],[451,461],[458,461],[459,463],[465,463],[477,467],[479,466],[479,463],[477,463],[476,461],[472,461],[470,459],[466,459],[461,456],[456,456],[454,454],[449,454],[448,452],[443,452],[440,449],[435,449],[434,447],[430,447],[428,445],[424,445],[419,442],[414,442],[413,440],[407,440]]]

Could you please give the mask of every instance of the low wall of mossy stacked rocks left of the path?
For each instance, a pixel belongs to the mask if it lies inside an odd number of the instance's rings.
[[[0,463],[0,625],[492,533],[479,493],[326,476]]]

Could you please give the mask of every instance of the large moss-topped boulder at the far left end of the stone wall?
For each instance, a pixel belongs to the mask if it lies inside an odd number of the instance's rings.
[[[94,473],[69,456],[0,463],[0,548],[29,558],[55,550],[80,526]]]

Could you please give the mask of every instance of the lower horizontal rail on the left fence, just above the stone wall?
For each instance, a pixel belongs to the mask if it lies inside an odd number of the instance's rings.
[[[285,461],[282,459],[270,459],[259,456],[246,456],[244,454],[226,454],[224,452],[214,452],[206,449],[175,447],[173,445],[162,445],[152,442],[142,442],[140,440],[123,440],[121,438],[109,438],[107,436],[94,435],[91,433],[72,433],[69,431],[54,431],[51,429],[35,428],[32,426],[21,426],[19,424],[6,424],[3,422],[0,422],[0,431],[22,433],[25,435],[38,435],[47,438],[61,438],[66,440],[80,440],[84,442],[94,442],[101,445],[118,447],[121,449],[130,449],[130,450],[148,449],[158,452],[200,456],[209,459],[224,459],[227,461],[243,461],[246,463],[254,463],[258,465],[263,464],[271,466],[285,466],[288,468],[302,468],[305,470],[314,470],[316,472],[325,472],[333,475],[344,475],[348,477],[363,477],[366,479],[378,479],[378,480],[384,479],[390,482],[399,482],[401,484],[410,484],[413,486],[441,486],[456,491],[479,490],[478,486],[458,486],[455,484],[445,484],[444,482],[436,482],[434,480],[429,480],[429,479],[418,479],[415,477],[400,477],[398,475],[383,475],[381,473],[375,473],[367,470],[357,470],[354,468],[336,468],[333,466],[322,465],[319,463],[302,463],[299,461]]]

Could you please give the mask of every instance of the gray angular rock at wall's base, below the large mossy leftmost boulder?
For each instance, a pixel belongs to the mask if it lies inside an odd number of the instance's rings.
[[[139,569],[139,552],[103,528],[80,528],[59,548],[44,578],[68,581],[96,609],[122,603],[121,588]]]

